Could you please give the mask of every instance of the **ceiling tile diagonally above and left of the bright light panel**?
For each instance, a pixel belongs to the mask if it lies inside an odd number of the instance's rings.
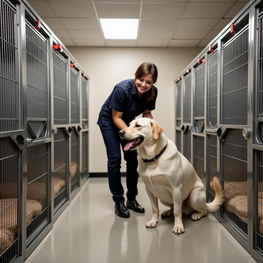
[[[92,3],[49,2],[58,17],[96,18]],[[63,8],[61,8],[63,7]]]

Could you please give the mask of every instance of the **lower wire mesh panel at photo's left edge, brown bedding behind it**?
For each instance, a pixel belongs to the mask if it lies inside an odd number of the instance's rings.
[[[0,262],[18,255],[19,150],[8,138],[0,138]]]

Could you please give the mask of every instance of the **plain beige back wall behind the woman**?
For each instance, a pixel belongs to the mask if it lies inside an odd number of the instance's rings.
[[[201,48],[105,48],[69,47],[72,55],[89,76],[89,172],[107,172],[107,155],[98,125],[98,113],[114,86],[134,77],[143,62],[158,68],[158,97],[153,118],[174,141],[174,79]],[[122,158],[121,172],[126,165]]]

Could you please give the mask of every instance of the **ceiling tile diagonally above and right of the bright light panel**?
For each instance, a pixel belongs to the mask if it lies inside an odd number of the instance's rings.
[[[186,3],[143,3],[141,18],[180,18]]]

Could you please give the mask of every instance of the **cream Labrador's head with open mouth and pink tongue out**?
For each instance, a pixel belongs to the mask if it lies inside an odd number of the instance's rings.
[[[147,140],[157,140],[162,134],[163,128],[156,121],[149,118],[133,120],[129,127],[119,131],[122,139],[129,140],[124,150],[135,150],[146,143]]]

